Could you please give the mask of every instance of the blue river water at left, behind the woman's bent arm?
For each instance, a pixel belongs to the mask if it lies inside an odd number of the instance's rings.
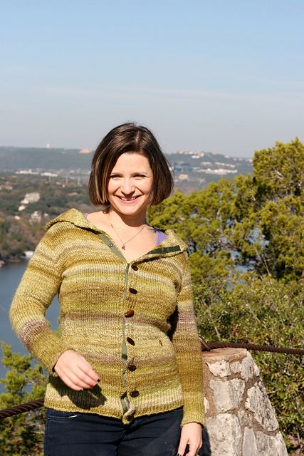
[[[23,347],[14,331],[11,329],[9,322],[9,308],[11,300],[19,285],[23,272],[28,265],[28,260],[23,259],[18,263],[6,263],[0,268],[0,341],[9,343],[14,352],[28,353]],[[59,304],[57,296],[53,299],[51,306],[46,313],[47,320],[51,323],[51,328],[58,326]],[[0,350],[0,360],[2,351]],[[5,368],[0,363],[0,378],[5,375]],[[0,384],[0,391],[3,391],[3,385]]]

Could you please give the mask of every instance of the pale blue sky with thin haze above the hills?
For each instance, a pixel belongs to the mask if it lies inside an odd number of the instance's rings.
[[[304,140],[303,0],[0,8],[0,145],[94,148],[128,120],[165,152]]]

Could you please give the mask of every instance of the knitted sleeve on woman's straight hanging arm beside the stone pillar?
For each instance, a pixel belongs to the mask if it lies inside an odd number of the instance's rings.
[[[172,343],[177,356],[179,378],[184,397],[182,425],[197,422],[204,425],[203,362],[201,343],[194,317],[192,283],[187,253],[182,286],[177,299],[177,326]]]

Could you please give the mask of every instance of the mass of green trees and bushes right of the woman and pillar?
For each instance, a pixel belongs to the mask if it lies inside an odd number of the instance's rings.
[[[201,336],[301,348],[304,340],[304,146],[256,151],[253,175],[220,180],[150,209],[189,245]],[[281,430],[303,438],[303,362],[253,353]],[[291,448],[291,444],[290,444]]]

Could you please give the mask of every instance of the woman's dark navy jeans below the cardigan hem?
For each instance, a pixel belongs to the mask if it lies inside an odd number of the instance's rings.
[[[122,420],[90,413],[46,411],[44,456],[175,456],[182,408]]]

